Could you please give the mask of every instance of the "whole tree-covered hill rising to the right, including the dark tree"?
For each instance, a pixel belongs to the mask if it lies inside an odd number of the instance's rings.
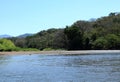
[[[120,49],[120,13],[110,13],[94,21],[80,20],[62,29],[51,28],[26,38],[10,40],[17,47],[39,50]]]

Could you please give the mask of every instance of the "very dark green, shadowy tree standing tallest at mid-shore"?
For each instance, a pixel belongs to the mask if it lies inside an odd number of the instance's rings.
[[[76,26],[66,27],[64,30],[69,41],[70,50],[83,49],[83,35],[81,30]]]

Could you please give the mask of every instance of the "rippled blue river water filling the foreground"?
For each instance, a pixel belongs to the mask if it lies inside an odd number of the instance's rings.
[[[120,54],[0,56],[0,82],[120,82]]]

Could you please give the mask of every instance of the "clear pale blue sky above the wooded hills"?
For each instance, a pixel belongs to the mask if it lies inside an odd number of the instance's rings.
[[[65,28],[120,12],[120,0],[0,0],[0,35]]]

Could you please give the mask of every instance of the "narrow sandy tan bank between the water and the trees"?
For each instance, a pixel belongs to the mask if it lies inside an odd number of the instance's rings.
[[[83,54],[120,53],[120,50],[75,50],[75,51],[12,51],[0,52],[0,55],[83,55]]]

